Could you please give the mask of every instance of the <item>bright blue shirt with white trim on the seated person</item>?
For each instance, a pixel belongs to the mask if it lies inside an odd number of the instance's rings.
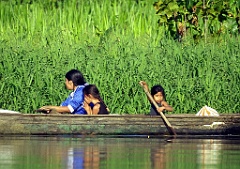
[[[76,90],[73,91],[64,102],[62,102],[61,106],[67,106],[72,114],[87,114],[83,108],[84,87],[84,85],[77,86]]]

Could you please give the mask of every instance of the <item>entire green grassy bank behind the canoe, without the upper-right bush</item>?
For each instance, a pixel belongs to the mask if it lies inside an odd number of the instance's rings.
[[[65,73],[79,68],[99,87],[112,113],[149,111],[140,80],[162,84],[174,113],[196,113],[204,105],[239,112],[238,37],[197,45],[163,39],[152,4],[131,3],[46,11],[40,4],[4,6],[0,107],[32,113],[42,105],[59,105],[68,95]]]

